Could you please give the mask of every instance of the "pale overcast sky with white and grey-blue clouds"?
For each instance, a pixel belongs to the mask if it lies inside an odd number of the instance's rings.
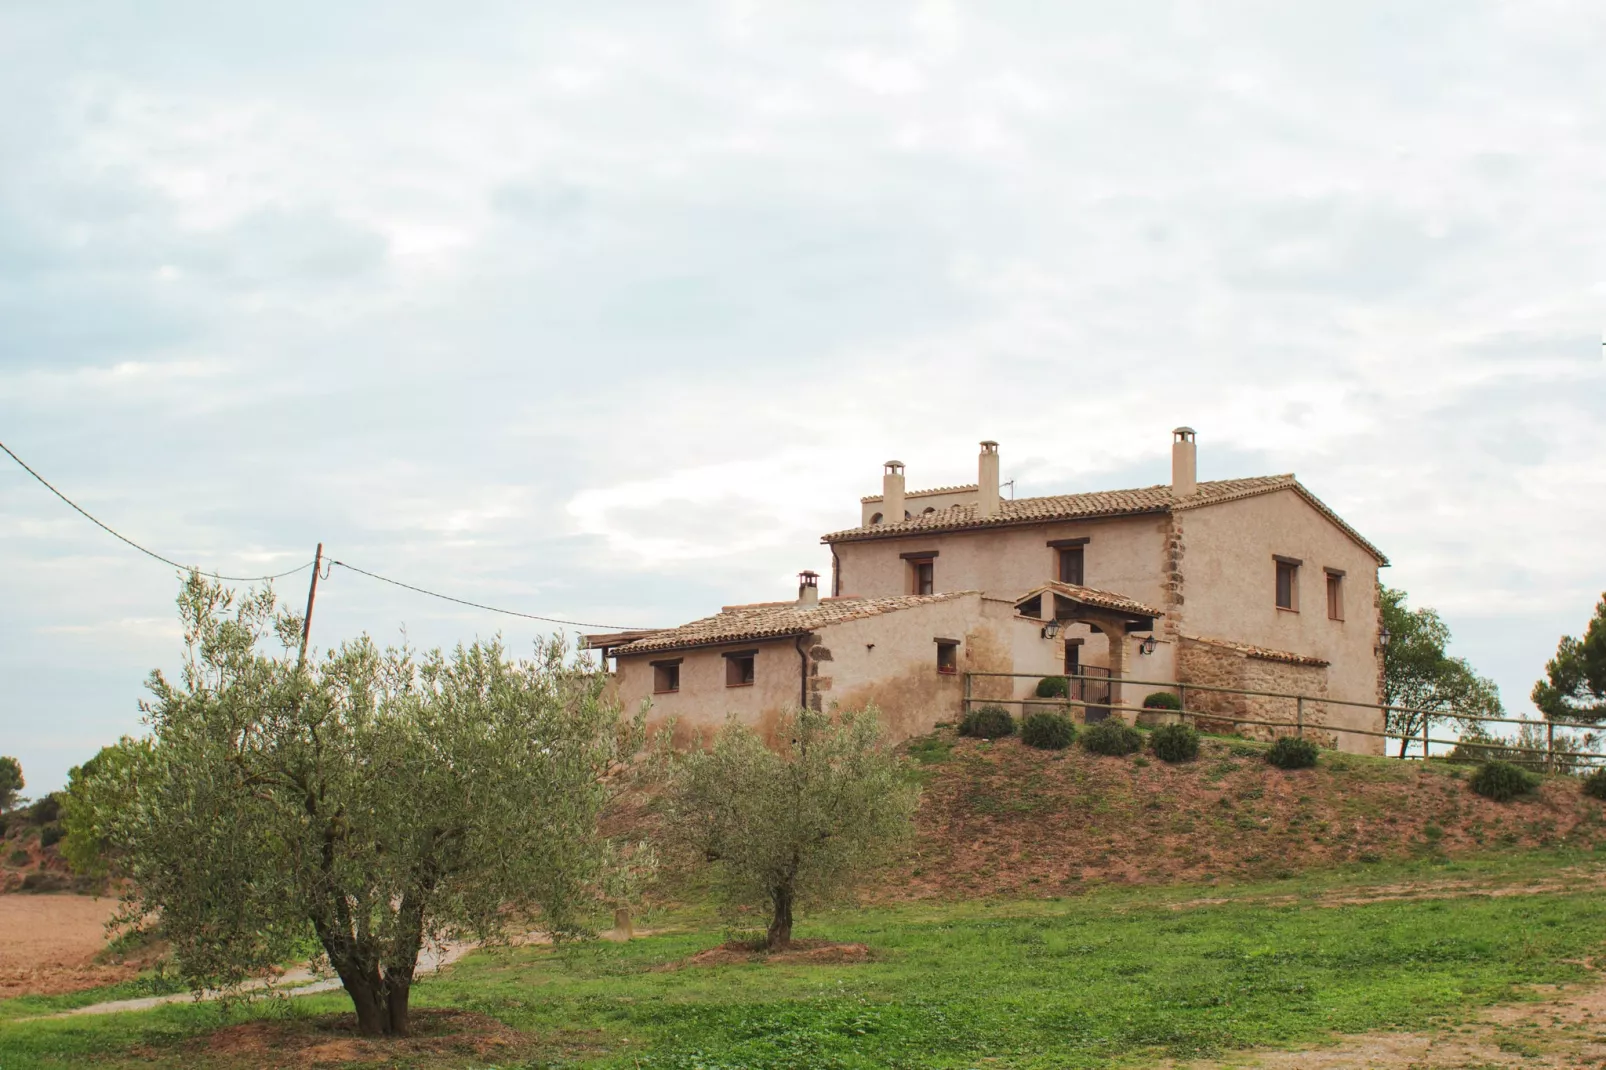
[[[1527,710],[1606,588],[1603,56],[1545,0],[0,2],[0,440],[207,569],[652,625],[825,570],[888,456],[1142,485],[1187,423]],[[8,463],[0,561],[40,792],[178,583]],[[543,630],[320,591],[403,625]]]

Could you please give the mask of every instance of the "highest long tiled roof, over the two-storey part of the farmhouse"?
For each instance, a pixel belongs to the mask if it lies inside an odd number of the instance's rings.
[[[964,532],[983,527],[1010,527],[1015,524],[1041,524],[1044,521],[1081,521],[1107,516],[1140,516],[1143,513],[1171,513],[1172,509],[1198,509],[1201,506],[1237,501],[1275,490],[1293,490],[1314,509],[1338,525],[1346,535],[1378,559],[1388,564],[1376,546],[1362,538],[1360,532],[1346,524],[1336,513],[1306,490],[1291,474],[1256,476],[1251,479],[1216,479],[1198,485],[1198,493],[1177,498],[1168,484],[1137,487],[1132,490],[1094,490],[1079,495],[1046,495],[1041,498],[1013,498],[999,501],[993,516],[978,516],[973,503],[956,504],[936,513],[922,513],[895,524],[866,524],[832,532],[822,543],[851,543],[867,538],[895,538],[898,535],[925,535],[940,532]]]

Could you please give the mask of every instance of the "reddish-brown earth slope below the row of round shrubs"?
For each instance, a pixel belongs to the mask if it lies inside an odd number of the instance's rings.
[[[1566,778],[1495,803],[1453,766],[1323,752],[1314,770],[1282,771],[1261,747],[1224,739],[1206,739],[1200,758],[1182,765],[946,729],[909,750],[927,774],[917,848],[877,898],[1269,879],[1490,848],[1606,850],[1601,803]]]

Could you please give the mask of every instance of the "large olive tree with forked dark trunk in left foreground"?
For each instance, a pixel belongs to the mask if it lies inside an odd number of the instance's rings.
[[[153,673],[149,753],[112,763],[103,827],[125,917],[161,917],[183,978],[238,986],[315,935],[365,1035],[405,1035],[419,953],[556,937],[612,871],[596,834],[633,745],[602,676],[560,641],[414,657],[350,641],[297,665],[300,622],[271,591],[191,575],[178,681]],[[267,652],[278,638],[278,652]]]

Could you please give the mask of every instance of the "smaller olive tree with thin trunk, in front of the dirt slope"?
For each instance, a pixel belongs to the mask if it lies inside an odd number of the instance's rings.
[[[668,753],[663,805],[666,847],[710,863],[726,906],[768,911],[781,950],[800,905],[850,892],[911,835],[919,789],[874,707],[789,713],[774,744],[732,718],[711,745]]]

